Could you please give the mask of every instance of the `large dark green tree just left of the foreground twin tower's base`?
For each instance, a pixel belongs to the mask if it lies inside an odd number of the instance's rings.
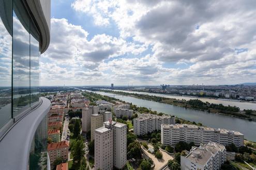
[[[85,154],[85,145],[82,140],[76,140],[73,143],[74,144],[71,148],[71,154],[73,155],[73,163],[80,164],[80,161],[82,160]]]

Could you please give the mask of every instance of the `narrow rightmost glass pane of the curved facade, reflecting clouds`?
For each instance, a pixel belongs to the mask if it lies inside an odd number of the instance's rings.
[[[31,22],[32,23],[32,22]],[[32,24],[31,24],[32,28]],[[32,31],[31,31],[32,32]],[[39,37],[38,33],[36,37]],[[31,72],[31,106],[35,105],[39,101],[40,91],[39,91],[39,42],[31,35],[30,37],[30,72]]]

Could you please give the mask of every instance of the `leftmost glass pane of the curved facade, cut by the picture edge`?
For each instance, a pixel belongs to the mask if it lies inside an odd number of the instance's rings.
[[[12,1],[0,0],[0,128],[11,119]]]

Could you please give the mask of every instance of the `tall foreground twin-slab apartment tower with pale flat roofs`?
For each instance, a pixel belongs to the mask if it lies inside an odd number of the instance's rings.
[[[125,166],[127,161],[126,128],[125,124],[110,120],[109,122],[104,122],[103,127],[95,130],[94,155],[96,169],[113,169],[113,166],[117,169],[122,169]],[[105,142],[102,139],[105,139]],[[105,148],[101,149],[102,145]],[[110,158],[106,158],[107,156]]]

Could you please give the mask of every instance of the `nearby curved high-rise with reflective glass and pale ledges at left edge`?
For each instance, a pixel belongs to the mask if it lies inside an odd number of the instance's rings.
[[[47,113],[39,58],[50,44],[51,1],[0,0],[0,165],[40,169],[48,160]],[[36,158],[36,159],[35,159]]]

